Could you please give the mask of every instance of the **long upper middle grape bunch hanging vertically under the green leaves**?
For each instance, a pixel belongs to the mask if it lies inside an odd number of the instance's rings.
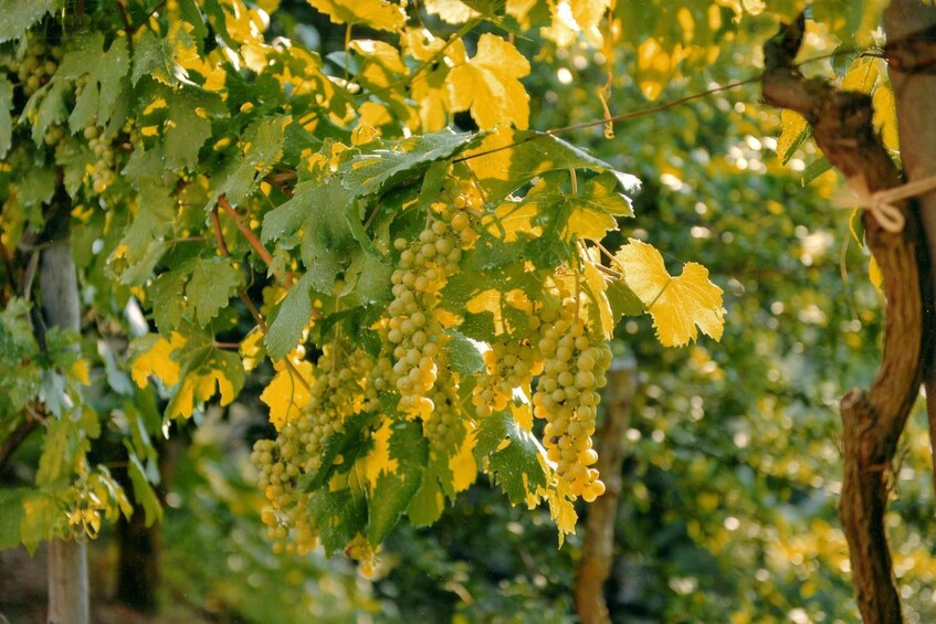
[[[461,184],[454,193],[443,191],[419,236],[393,242],[400,258],[390,276],[393,300],[381,328],[385,357],[391,362],[389,383],[400,394],[399,410],[423,420],[435,408],[432,390],[445,366],[441,360],[446,337],[438,309],[440,290],[458,272],[463,250],[477,239],[471,211],[480,208],[481,198],[471,189]],[[445,201],[452,194],[451,201]]]

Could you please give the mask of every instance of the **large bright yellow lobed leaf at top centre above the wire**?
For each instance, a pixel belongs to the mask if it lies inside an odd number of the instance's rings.
[[[477,42],[477,54],[456,64],[445,77],[452,109],[470,109],[482,130],[503,123],[525,129],[529,95],[519,78],[527,74],[529,62],[512,43],[484,33]]]

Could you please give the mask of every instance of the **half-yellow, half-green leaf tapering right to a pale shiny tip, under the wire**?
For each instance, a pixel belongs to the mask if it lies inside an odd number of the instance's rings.
[[[551,135],[498,127],[464,156],[472,172],[487,192],[488,201],[499,201],[546,171],[592,169],[610,171],[624,193],[640,189],[640,181],[614,169],[586,151]]]

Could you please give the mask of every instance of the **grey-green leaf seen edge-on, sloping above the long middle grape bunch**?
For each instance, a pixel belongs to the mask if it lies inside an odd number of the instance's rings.
[[[343,186],[356,197],[365,197],[413,178],[435,161],[451,158],[473,145],[475,135],[442,130],[389,141],[382,149],[350,160],[341,176]],[[435,176],[439,176],[437,169]],[[434,198],[433,198],[434,199]]]

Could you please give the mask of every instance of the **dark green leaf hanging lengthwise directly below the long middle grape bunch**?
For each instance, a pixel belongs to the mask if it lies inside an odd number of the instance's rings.
[[[397,466],[392,472],[380,473],[368,501],[367,539],[370,543],[383,541],[410,506],[422,484],[429,457],[429,445],[418,423],[395,423],[390,431],[389,458],[396,461]]]

